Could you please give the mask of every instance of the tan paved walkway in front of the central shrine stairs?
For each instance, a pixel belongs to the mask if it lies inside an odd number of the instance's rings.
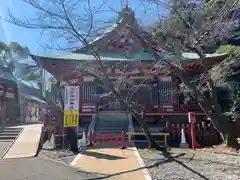
[[[145,180],[136,148],[121,150],[119,146],[100,146],[87,149],[71,163],[81,171],[105,174],[114,180]]]

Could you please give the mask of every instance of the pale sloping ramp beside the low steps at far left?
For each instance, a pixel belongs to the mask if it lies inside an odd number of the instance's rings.
[[[42,125],[27,125],[3,158],[26,158],[37,154]]]

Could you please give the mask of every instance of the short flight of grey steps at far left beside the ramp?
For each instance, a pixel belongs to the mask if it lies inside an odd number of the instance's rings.
[[[0,128],[0,142],[12,142],[16,139],[22,128]]]

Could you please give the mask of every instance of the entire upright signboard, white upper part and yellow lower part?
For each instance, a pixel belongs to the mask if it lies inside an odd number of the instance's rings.
[[[79,86],[65,86],[64,127],[78,127],[79,122]]]

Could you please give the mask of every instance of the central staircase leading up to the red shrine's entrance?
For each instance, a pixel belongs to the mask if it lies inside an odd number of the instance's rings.
[[[99,113],[96,118],[94,131],[97,134],[112,133],[120,135],[122,131],[128,132],[129,117],[127,113]]]

